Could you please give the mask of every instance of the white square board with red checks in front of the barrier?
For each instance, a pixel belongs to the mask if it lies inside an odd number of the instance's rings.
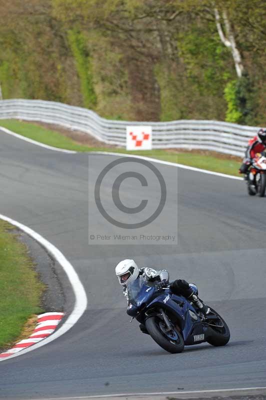
[[[151,126],[126,126],[127,150],[151,150]]]

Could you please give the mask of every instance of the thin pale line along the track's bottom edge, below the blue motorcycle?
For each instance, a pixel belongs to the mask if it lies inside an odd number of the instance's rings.
[[[208,390],[188,390],[188,391],[154,391],[148,393],[117,393],[117,394],[96,394],[89,396],[79,396],[79,397],[56,397],[56,400],[86,400],[87,398],[108,398],[108,397],[132,397],[132,396],[151,396],[151,395],[168,395],[168,394],[204,394],[204,393],[226,393],[226,392],[236,392],[243,390],[266,390],[266,386],[261,387],[237,387],[233,389],[208,389]],[[39,399],[32,399],[39,400]],[[46,397],[42,400],[55,400],[55,398]]]

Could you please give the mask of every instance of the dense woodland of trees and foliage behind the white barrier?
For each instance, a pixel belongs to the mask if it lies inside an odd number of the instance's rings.
[[[0,0],[3,98],[265,125],[264,0]]]

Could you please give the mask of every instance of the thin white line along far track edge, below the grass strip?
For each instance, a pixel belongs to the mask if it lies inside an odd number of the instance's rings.
[[[44,147],[44,148],[47,148],[49,150],[61,151],[61,152],[70,153],[70,154],[76,154],[76,153],[79,152],[79,151],[66,150],[66,149],[63,149],[63,148],[57,148],[57,147],[49,146],[48,144],[44,144],[44,143],[41,143],[39,141],[36,141],[36,140],[33,140],[33,139],[29,139],[26,136],[22,136],[22,135],[20,135],[18,133],[12,132],[11,130],[6,129],[6,128],[2,127],[2,126],[0,126],[0,130],[2,130],[3,132],[8,133],[8,134],[10,134],[10,135],[12,135],[14,137],[17,137],[18,139],[25,140],[25,141],[27,141],[27,142],[29,142],[31,144],[35,144],[37,146]],[[140,159],[144,159],[144,160],[147,160],[147,161],[157,162],[158,164],[170,165],[170,166],[175,166],[177,168],[188,169],[190,171],[208,173],[210,175],[216,175],[216,176],[226,177],[226,178],[230,178],[230,179],[243,180],[243,178],[240,177],[240,176],[227,175],[226,173],[214,172],[214,171],[210,171],[208,169],[196,168],[194,166],[178,164],[178,163],[170,162],[170,161],[163,161],[163,160],[156,159],[156,158],[145,157],[143,155],[116,153],[116,152],[111,152],[111,151],[89,151],[89,152],[87,152],[87,154],[105,154],[105,155],[118,155],[118,156],[121,156],[121,157],[140,158]]]

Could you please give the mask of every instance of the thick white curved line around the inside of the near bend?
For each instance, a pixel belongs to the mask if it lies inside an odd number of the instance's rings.
[[[69,330],[81,317],[83,312],[86,309],[87,306],[87,296],[85,289],[76,273],[74,270],[73,266],[70,264],[70,262],[65,258],[65,256],[61,253],[60,250],[58,250],[57,247],[55,247],[52,243],[50,243],[48,240],[46,240],[44,237],[42,237],[39,233],[35,232],[33,229],[29,228],[26,225],[23,225],[22,223],[9,218],[8,216],[0,214],[0,219],[3,219],[6,222],[11,223],[14,226],[17,226],[19,229],[23,230],[25,233],[27,233],[29,236],[31,236],[34,240],[36,240],[39,244],[41,244],[48,252],[51,254],[53,258],[56,259],[56,261],[61,265],[63,270],[65,271],[68,280],[72,286],[74,295],[75,295],[75,305],[70,313],[70,315],[67,317],[66,321],[63,322],[63,324],[57,329],[54,333],[52,333],[50,336],[44,338],[40,342],[36,344],[32,344],[32,346],[25,348],[24,350],[19,351],[17,354],[10,355],[9,357],[6,358],[0,358],[0,361],[4,361],[6,359],[10,359],[13,357],[17,357],[19,355],[25,354],[28,351],[35,350],[38,347],[41,347],[57,337],[61,336],[64,334],[67,330]]]

